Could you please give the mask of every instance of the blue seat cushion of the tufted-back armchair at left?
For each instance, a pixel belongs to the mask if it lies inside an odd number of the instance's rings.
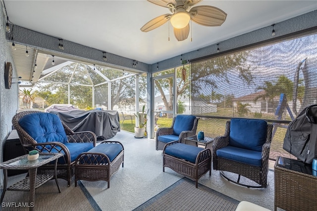
[[[84,153],[84,152],[88,152],[89,150],[94,148],[94,143],[64,143],[64,145],[67,147],[67,149],[69,150],[69,154],[70,154],[70,161],[73,162],[76,160],[77,156],[79,156],[79,154]],[[60,150],[60,147],[56,147],[58,150]],[[45,153],[46,151],[43,150],[43,153]],[[52,153],[57,153],[58,151],[56,149],[52,149],[51,151]],[[61,151],[61,153],[63,155],[65,155],[64,151]],[[58,163],[59,164],[65,164],[64,158],[59,158],[58,159]]]

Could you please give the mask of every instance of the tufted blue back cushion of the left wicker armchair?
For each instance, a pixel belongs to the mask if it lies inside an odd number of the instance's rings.
[[[67,143],[64,127],[56,114],[30,113],[23,116],[19,124],[37,143]]]

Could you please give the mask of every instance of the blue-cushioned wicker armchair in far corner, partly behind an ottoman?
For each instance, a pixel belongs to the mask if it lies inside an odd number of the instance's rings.
[[[162,127],[157,130],[156,150],[163,150],[166,143],[178,141],[196,134],[198,119],[194,115],[177,115],[173,118],[171,127]]]

